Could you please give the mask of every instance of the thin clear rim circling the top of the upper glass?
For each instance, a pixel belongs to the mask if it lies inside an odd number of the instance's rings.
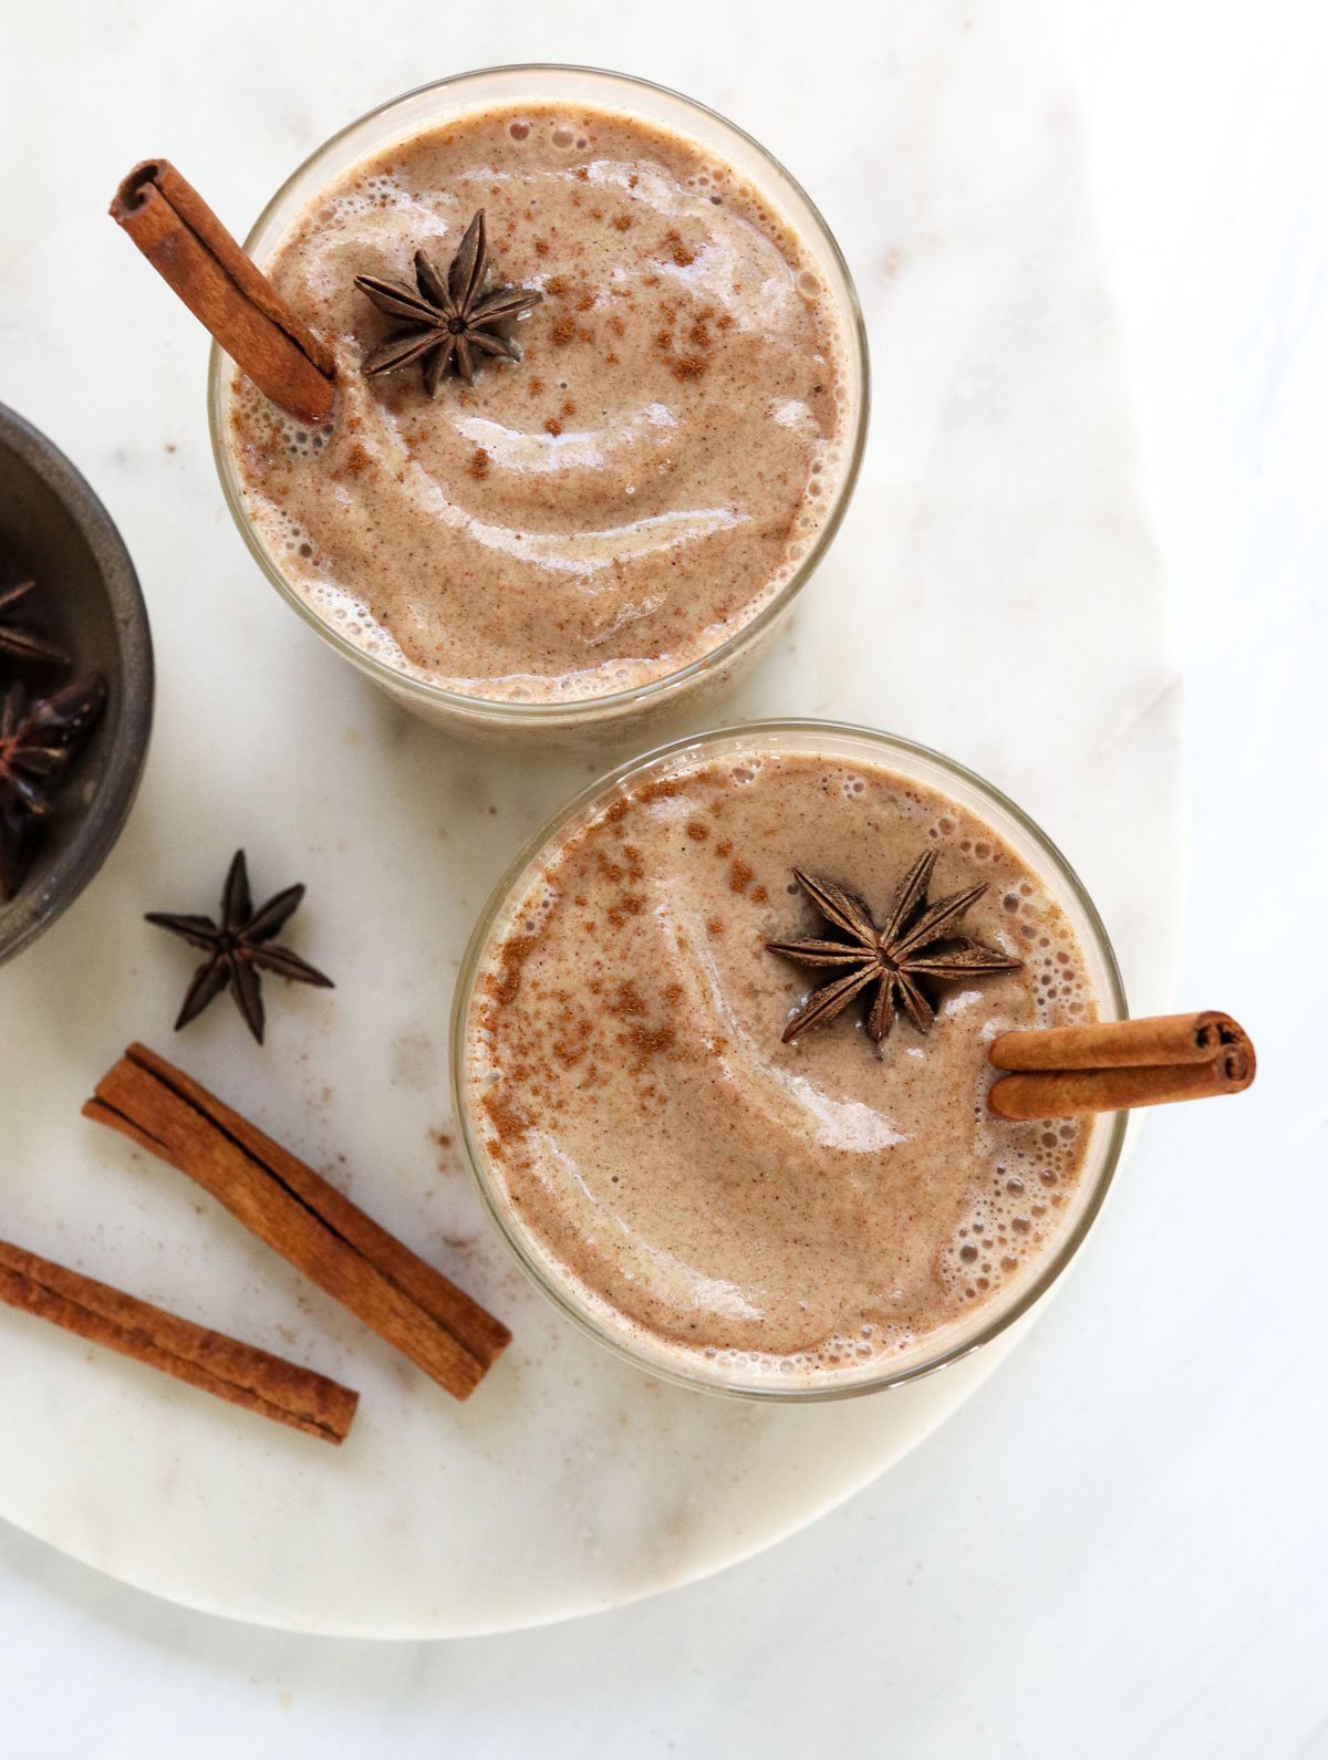
[[[812,539],[807,554],[800,560],[789,579],[752,618],[740,625],[740,628],[727,635],[717,648],[708,649],[708,653],[689,662],[685,667],[680,667],[676,672],[666,672],[662,678],[650,679],[646,685],[632,685],[625,690],[606,692],[597,697],[569,699],[564,702],[516,702],[502,697],[484,697],[477,692],[447,690],[430,679],[421,679],[410,672],[403,672],[398,667],[389,665],[386,660],[377,658],[377,655],[366,653],[363,648],[356,646],[356,642],[352,642],[340,630],[335,630],[324,618],[319,616],[317,611],[314,611],[308,600],[285,579],[282,570],[273,561],[266,546],[259,539],[254,521],[248,517],[243,495],[240,493],[234,461],[229,447],[225,445],[224,400],[227,396],[229,356],[217,341],[211,343],[208,356],[208,431],[211,438],[213,463],[222,484],[227,510],[250,554],[282,598],[285,598],[285,602],[299,612],[305,623],[317,630],[319,635],[322,635],[324,641],[328,641],[343,658],[350,660],[352,665],[358,665],[375,683],[384,685],[393,692],[403,692],[419,704],[447,709],[461,718],[483,718],[497,723],[525,723],[535,727],[557,727],[567,722],[579,725],[585,722],[618,718],[627,713],[634,713],[636,709],[646,709],[650,704],[680,692],[692,679],[717,671],[726,662],[734,660],[752,642],[756,642],[764,630],[778,621],[782,612],[787,611],[815,574],[849,509],[858,484],[858,475],[861,472],[863,454],[867,451],[867,431],[872,414],[872,373],[867,347],[867,322],[863,319],[858,287],[852,280],[844,252],[840,250],[838,239],[801,183],[766,146],[763,146],[738,123],[731,121],[717,109],[712,109],[708,104],[703,104],[699,99],[689,97],[685,92],[676,92],[673,86],[660,84],[653,79],[641,79],[636,74],[620,74],[608,67],[588,67],[576,62],[511,62],[497,63],[493,67],[476,67],[463,74],[449,74],[446,79],[424,81],[419,86],[412,86],[409,92],[398,93],[395,99],[387,99],[384,104],[375,104],[373,109],[356,116],[352,121],[345,123],[345,127],[331,134],[321,146],[314,148],[314,151],[308,153],[282,181],[280,188],[269,197],[257,220],[245,234],[245,252],[252,255],[255,239],[282,206],[287,192],[292,190],[294,185],[298,185],[324,157],[331,155],[335,148],[338,148],[356,130],[379,118],[386,118],[391,111],[412,102],[414,99],[433,92],[447,93],[470,81],[490,79],[500,74],[572,74],[659,93],[685,109],[706,116],[712,123],[719,123],[720,128],[743,141],[757,155],[763,165],[768,171],[773,171],[775,178],[782,178],[793,190],[794,197],[805,204],[812,222],[812,231],[817,234],[817,245],[824,250],[844,283],[844,299],[840,301],[837,296],[835,304],[842,304],[840,322],[849,357],[856,366],[858,391],[856,412],[851,422],[849,456],[838,475],[833,503]],[[606,104],[606,107],[611,106]],[[777,202],[775,206],[778,208],[780,204]],[[796,231],[801,236],[805,229]]]

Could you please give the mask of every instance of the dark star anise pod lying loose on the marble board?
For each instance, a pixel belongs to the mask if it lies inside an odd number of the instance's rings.
[[[292,979],[298,984],[335,989],[329,977],[292,954],[289,947],[271,945],[273,935],[296,912],[303,896],[303,885],[289,885],[259,910],[254,910],[245,852],[236,850],[222,887],[220,922],[213,922],[211,917],[178,917],[164,910],[148,912],[148,922],[155,922],[159,929],[169,929],[190,947],[201,947],[208,954],[185,991],[185,1001],[174,1024],[176,1033],[201,1016],[224,989],[234,989],[236,1008],[245,1017],[254,1038],[262,1044],[261,972],[271,972],[278,979]]]

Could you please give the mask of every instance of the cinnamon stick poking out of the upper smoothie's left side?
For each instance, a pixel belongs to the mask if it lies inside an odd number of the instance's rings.
[[[111,218],[259,391],[312,428],[331,421],[331,352],[169,158],[134,165],[114,192]]]

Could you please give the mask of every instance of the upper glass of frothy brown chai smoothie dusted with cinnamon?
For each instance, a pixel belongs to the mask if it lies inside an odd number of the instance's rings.
[[[430,396],[366,377],[402,319],[356,276],[446,276],[483,211],[488,285],[541,294]],[[504,67],[352,123],[278,190],[248,253],[336,357],[301,429],[213,348],[227,503],[345,658],[460,732],[548,736],[717,688],[787,612],[845,510],[867,343],[793,178],[660,86]]]

